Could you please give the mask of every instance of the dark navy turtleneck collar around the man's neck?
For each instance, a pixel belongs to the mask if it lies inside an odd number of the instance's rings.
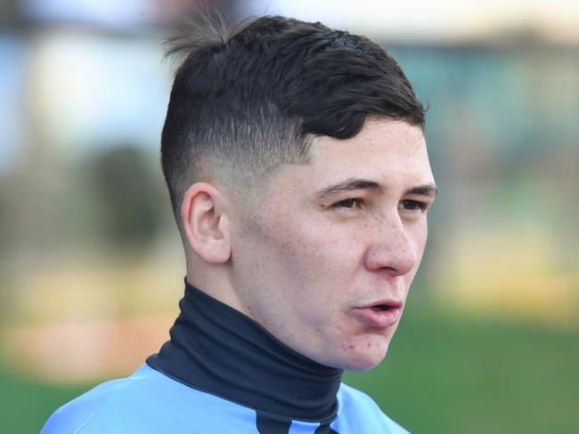
[[[190,285],[170,341],[147,364],[194,389],[256,410],[322,422],[337,411],[342,371],[278,341],[251,318]]]

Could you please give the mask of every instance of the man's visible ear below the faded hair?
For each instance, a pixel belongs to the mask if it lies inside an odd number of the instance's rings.
[[[224,263],[231,257],[225,197],[207,182],[194,183],[183,196],[181,222],[189,245],[204,261]]]

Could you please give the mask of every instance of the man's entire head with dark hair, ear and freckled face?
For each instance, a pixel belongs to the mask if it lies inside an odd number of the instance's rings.
[[[362,36],[281,17],[175,50],[162,164],[188,278],[308,358],[376,365],[436,193],[402,69]]]

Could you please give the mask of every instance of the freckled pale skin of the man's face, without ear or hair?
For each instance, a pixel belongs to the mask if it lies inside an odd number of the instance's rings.
[[[254,209],[232,221],[236,308],[322,365],[376,366],[436,196],[422,130],[369,119],[351,139],[314,139],[308,164],[282,165],[267,181]],[[377,313],[385,304],[391,313]]]

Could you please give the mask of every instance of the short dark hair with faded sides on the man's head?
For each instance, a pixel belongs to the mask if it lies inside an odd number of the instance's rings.
[[[266,16],[230,32],[196,26],[169,43],[186,56],[161,139],[179,226],[195,181],[242,191],[278,165],[306,162],[314,136],[354,137],[369,116],[424,128],[403,70],[366,37]]]

